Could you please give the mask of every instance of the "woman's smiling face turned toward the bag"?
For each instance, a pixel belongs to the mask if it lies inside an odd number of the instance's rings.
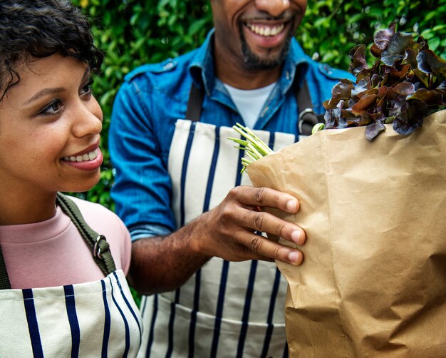
[[[17,193],[85,191],[100,178],[103,114],[85,63],[57,54],[17,68],[0,102],[0,183]]]

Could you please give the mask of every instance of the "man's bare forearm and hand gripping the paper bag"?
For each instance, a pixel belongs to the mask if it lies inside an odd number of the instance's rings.
[[[300,265],[303,256],[299,250],[255,232],[267,232],[302,245],[304,230],[261,208],[296,213],[299,202],[269,188],[234,188],[216,208],[172,234],[135,241],[128,273],[130,285],[145,295],[174,290],[213,256],[229,261],[280,260]]]

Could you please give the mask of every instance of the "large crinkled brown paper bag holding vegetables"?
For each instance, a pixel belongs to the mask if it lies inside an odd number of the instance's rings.
[[[408,136],[321,131],[249,165],[254,186],[299,198],[291,357],[446,357],[446,111]],[[281,239],[280,242],[293,245]]]

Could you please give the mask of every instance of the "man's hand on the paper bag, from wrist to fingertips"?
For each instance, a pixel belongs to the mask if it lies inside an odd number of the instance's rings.
[[[195,220],[196,240],[191,244],[197,245],[197,252],[230,261],[280,260],[292,265],[301,264],[303,256],[299,250],[255,232],[266,232],[302,245],[304,230],[261,208],[276,208],[294,214],[299,210],[299,201],[273,189],[239,186],[232,189],[216,208]]]

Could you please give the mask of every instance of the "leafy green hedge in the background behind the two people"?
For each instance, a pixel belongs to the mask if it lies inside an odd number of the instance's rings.
[[[73,4],[90,16],[96,43],[105,51],[102,76],[93,84],[104,113],[103,170],[100,183],[79,196],[113,210],[108,126],[123,77],[142,63],[162,61],[199,46],[212,28],[212,14],[208,0],[73,0]],[[377,29],[396,20],[398,31],[421,34],[432,50],[446,58],[444,19],[446,0],[310,0],[296,37],[308,55],[347,69],[350,49],[371,44]]]

